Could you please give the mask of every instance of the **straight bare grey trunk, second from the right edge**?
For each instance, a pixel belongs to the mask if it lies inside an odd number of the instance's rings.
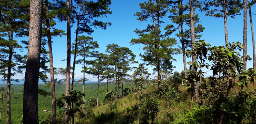
[[[246,70],[246,56],[247,56],[247,1],[244,0],[244,49],[243,49],[243,70]]]

